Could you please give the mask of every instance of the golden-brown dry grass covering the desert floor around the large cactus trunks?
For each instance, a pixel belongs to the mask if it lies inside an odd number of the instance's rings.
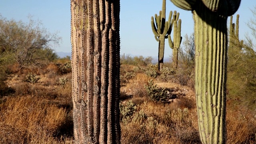
[[[10,66],[10,71],[14,72],[14,67]],[[121,70],[131,72],[134,67],[122,65]],[[28,72],[39,74],[41,79],[35,84],[23,82]],[[193,89],[154,79],[176,99],[165,104],[152,102],[144,88],[151,78],[143,72],[135,74],[121,87],[121,101],[131,100],[137,107],[129,122],[121,122],[122,144],[200,144]],[[68,81],[61,86],[59,78]],[[0,144],[72,144],[71,73],[64,74],[51,63],[43,72],[24,69],[12,74],[2,86],[13,93],[0,97]],[[229,103],[227,144],[255,144],[256,113]]]

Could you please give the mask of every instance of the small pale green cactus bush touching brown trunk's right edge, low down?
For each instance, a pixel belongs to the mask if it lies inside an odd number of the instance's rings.
[[[129,100],[126,103],[126,106],[120,103],[119,108],[120,108],[120,113],[123,115],[122,121],[130,122],[132,120],[132,115],[137,109],[137,106],[131,100]]]

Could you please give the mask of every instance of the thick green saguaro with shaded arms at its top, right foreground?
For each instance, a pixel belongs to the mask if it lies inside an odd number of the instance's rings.
[[[196,46],[195,92],[200,139],[225,143],[227,17],[241,0],[171,0],[192,10]]]

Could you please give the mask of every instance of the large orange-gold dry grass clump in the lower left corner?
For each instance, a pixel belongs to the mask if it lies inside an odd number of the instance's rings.
[[[0,104],[0,143],[57,143],[67,132],[66,109],[32,96],[11,97]],[[69,126],[70,127],[70,126]],[[49,141],[50,140],[50,141]],[[54,141],[52,141],[54,140]],[[49,141],[49,142],[47,142]]]

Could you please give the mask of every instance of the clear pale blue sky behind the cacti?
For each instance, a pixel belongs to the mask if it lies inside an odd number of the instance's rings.
[[[162,0],[120,0],[120,5],[120,53],[156,57],[158,42],[152,33],[150,20],[151,16],[158,14],[162,9]],[[242,0],[236,12],[240,14],[240,38],[243,38],[246,32],[250,36],[246,23],[253,17],[250,9],[254,6],[256,0]],[[194,31],[192,13],[177,8],[167,0],[166,17],[170,10],[180,12],[182,36],[191,34]],[[2,0],[0,14],[5,18],[23,22],[28,22],[28,15],[32,15],[34,20],[42,21],[50,32],[59,32],[62,42],[59,47],[54,48],[56,52],[71,52],[70,0]],[[165,59],[171,54],[172,50],[166,39]]]

